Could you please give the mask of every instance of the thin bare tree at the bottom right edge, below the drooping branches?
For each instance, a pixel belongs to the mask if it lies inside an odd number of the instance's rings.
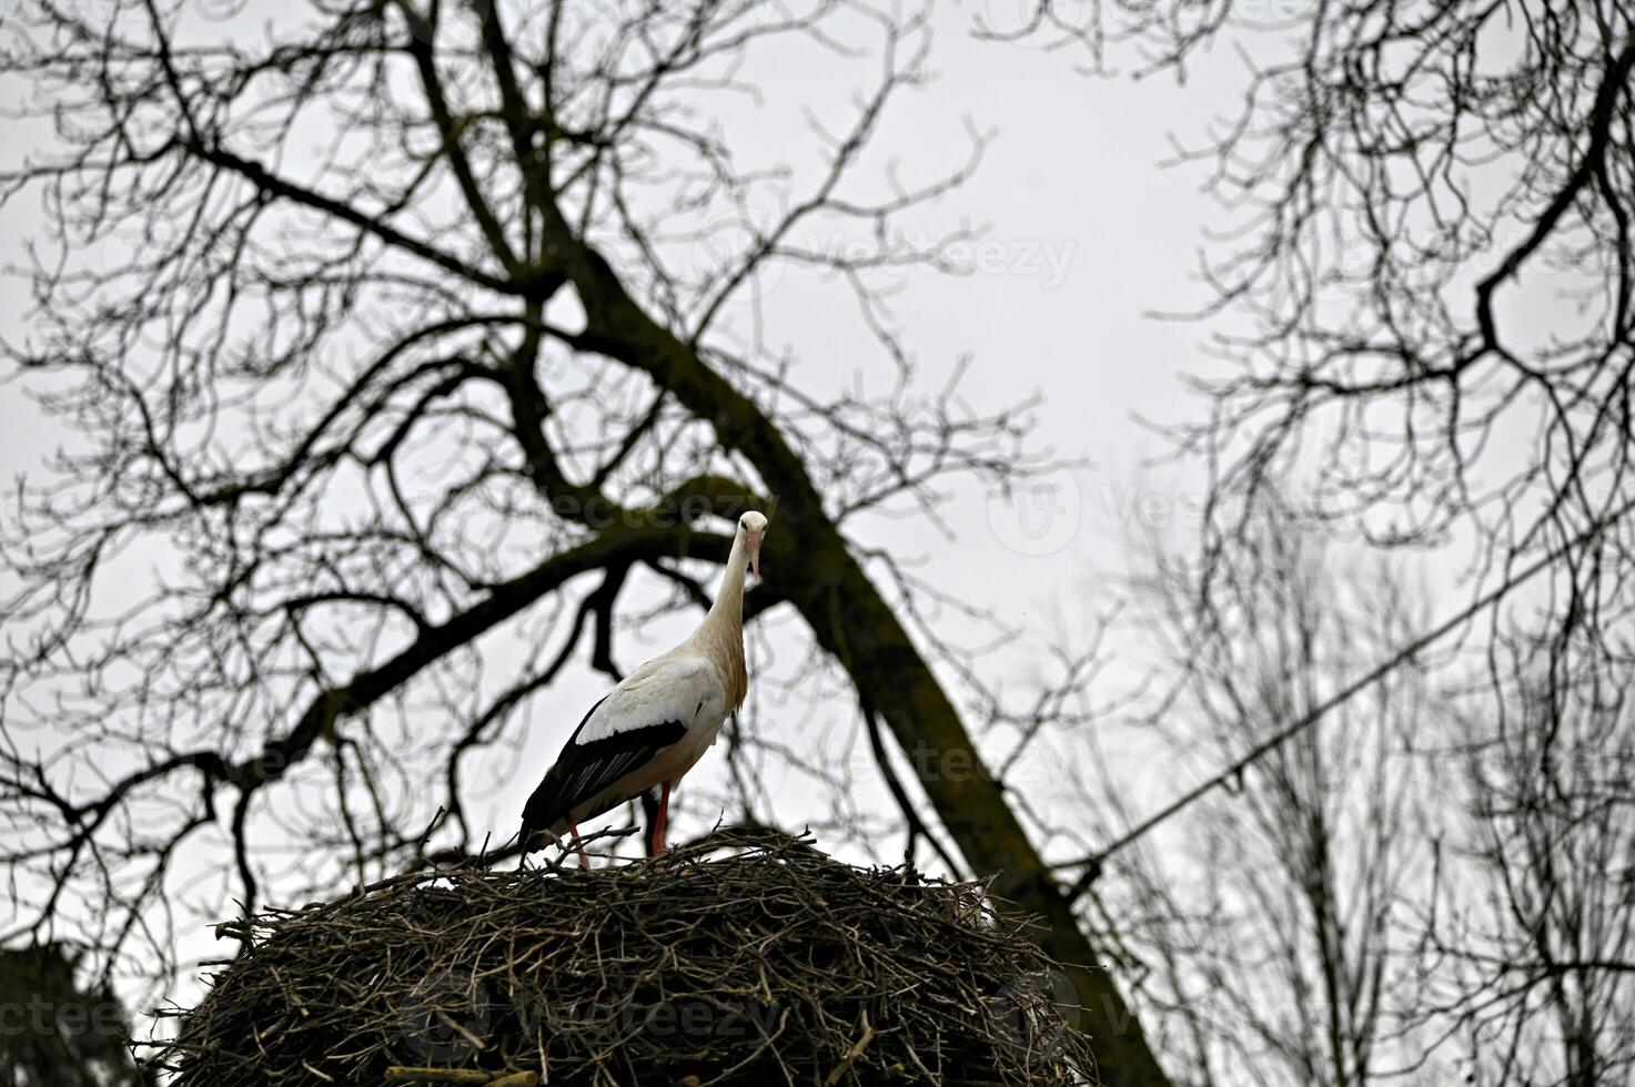
[[[1511,636],[1504,696],[1460,732],[1467,817],[1449,825],[1419,938],[1427,1023],[1476,1082],[1594,1087],[1635,1072],[1635,737],[1628,683],[1555,682],[1552,641]]]

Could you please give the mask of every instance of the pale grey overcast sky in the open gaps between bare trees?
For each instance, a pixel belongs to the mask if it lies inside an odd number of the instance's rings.
[[[960,224],[983,227],[965,253],[973,271],[904,273],[896,315],[927,389],[970,358],[963,389],[974,410],[1037,392],[1038,448],[1079,467],[1058,472],[1046,492],[1024,495],[1020,503],[973,485],[955,489],[945,508],[953,543],[922,520],[875,521],[868,531],[878,538],[867,543],[921,564],[940,588],[1028,624],[1037,641],[1017,642],[991,664],[1024,677],[1038,646],[1058,631],[1082,631],[1091,616],[1117,603],[1112,575],[1125,566],[1133,518],[1180,530],[1195,525],[1197,467],[1143,471],[1166,445],[1136,417],[1197,418],[1202,404],[1184,391],[1180,376],[1216,363],[1198,350],[1205,327],[1146,314],[1207,301],[1195,275],[1198,248],[1207,227],[1228,221],[1200,190],[1202,167],[1164,170],[1159,162],[1174,152],[1172,137],[1197,141],[1210,116],[1233,101],[1241,62],[1221,49],[1180,87],[1172,75],[1092,77],[1077,70],[1082,56],[1073,51],[1046,54],[970,34],[978,16],[1012,26],[1019,7],[989,0],[938,8],[932,67],[940,78],[894,105],[871,165],[883,172],[896,162],[912,180],[956,167],[966,154],[968,124],[994,132],[974,178],[912,219],[924,222],[927,237]],[[731,118],[734,145],[749,167],[798,162],[809,147],[798,127],[800,108],[844,101],[853,90],[835,85],[832,59],[818,52],[791,51],[775,70],[747,75],[768,87],[764,101],[746,103]],[[41,132],[13,131],[13,137],[8,160]],[[0,211],[11,260],[20,260],[18,239],[38,227],[38,201]],[[8,278],[0,288],[7,337],[21,333],[26,299],[20,286]],[[770,284],[765,301],[768,338],[796,348],[803,384],[850,382],[858,374],[875,387],[886,384],[878,351],[855,325],[835,319],[837,309],[852,306],[844,284],[788,276]],[[39,417],[16,382],[0,387],[0,469],[8,481],[36,474],[43,458],[70,440]],[[623,664],[641,655],[641,646],[621,646]],[[1110,678],[1117,682],[1117,672]],[[574,708],[561,714],[567,727],[602,683],[579,675],[551,693]],[[849,718],[849,705],[837,705],[834,716]],[[512,829],[505,812],[531,790],[564,736],[544,729],[530,739],[520,776],[495,799],[500,837]],[[1128,785],[1127,799],[1140,809],[1167,796],[1177,781],[1161,768]]]

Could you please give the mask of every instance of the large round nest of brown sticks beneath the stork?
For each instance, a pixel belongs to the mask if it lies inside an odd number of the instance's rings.
[[[410,1066],[548,1084],[1092,1080],[1059,1007],[1071,984],[984,884],[853,868],[782,835],[590,871],[427,873],[224,928],[244,951],[167,1054],[183,1087],[379,1084]]]

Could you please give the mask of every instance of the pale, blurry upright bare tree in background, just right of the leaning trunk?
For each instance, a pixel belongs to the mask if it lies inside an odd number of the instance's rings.
[[[1197,569],[1146,539],[1135,623],[1159,649],[1158,705],[1140,721],[1203,776],[1298,719],[1421,623],[1390,562],[1326,543],[1262,495],[1249,546],[1197,608]],[[1393,948],[1427,875],[1424,768],[1437,716],[1404,669],[1122,853],[1094,886],[1131,919],[1127,953],[1164,1009],[1177,1076],[1207,1084],[1385,1080],[1396,1064],[1409,956]],[[1100,790],[1117,825],[1115,790]],[[1140,920],[1136,920],[1140,919]],[[1180,1072],[1187,1067],[1190,1074]]]

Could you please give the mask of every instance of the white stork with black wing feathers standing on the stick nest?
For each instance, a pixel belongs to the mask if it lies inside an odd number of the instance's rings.
[[[652,822],[652,852],[664,852],[670,790],[714,744],[726,716],[744,703],[744,569],[760,577],[760,539],[767,518],[754,510],[737,518],[721,592],[705,621],[680,646],[641,665],[590,708],[562,745],[540,788],[522,809],[523,855],[541,830],[551,840],[574,837],[579,863],[589,866],[579,824],[662,788]],[[543,845],[543,842],[541,842]]]

